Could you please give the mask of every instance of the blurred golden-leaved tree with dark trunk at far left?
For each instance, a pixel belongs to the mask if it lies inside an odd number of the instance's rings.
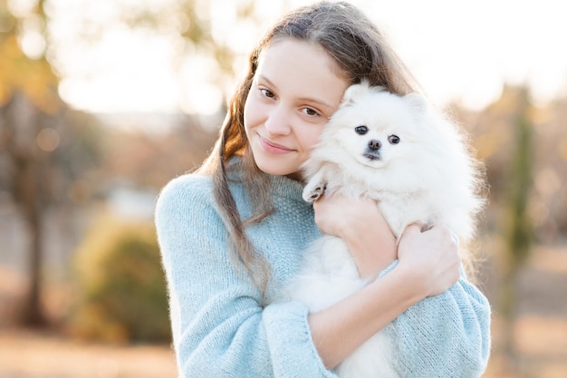
[[[0,161],[5,166],[0,189],[12,194],[30,240],[29,290],[19,320],[45,325],[43,213],[68,199],[66,189],[82,175],[87,161],[96,161],[91,158],[97,148],[91,136],[75,138],[72,111],[57,94],[58,78],[45,58],[48,20],[43,0],[0,0],[0,22]],[[85,155],[89,158],[78,158]]]

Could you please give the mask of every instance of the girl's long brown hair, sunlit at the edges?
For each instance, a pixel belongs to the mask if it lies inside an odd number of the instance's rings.
[[[245,235],[245,227],[270,215],[272,201],[268,176],[255,165],[248,148],[244,107],[259,55],[274,41],[283,38],[320,45],[351,83],[367,79],[371,85],[381,85],[401,95],[414,92],[417,86],[376,25],[348,3],[320,2],[297,8],[283,15],[260,40],[250,54],[248,73],[229,102],[215,148],[197,172],[212,176],[215,199],[229,228],[231,246],[264,296],[270,279],[270,267],[255,252]],[[231,161],[235,156],[241,156],[242,159]],[[251,196],[255,208],[251,218],[242,219],[238,214],[235,199],[228,187],[229,170],[237,170],[247,192],[255,193]]]

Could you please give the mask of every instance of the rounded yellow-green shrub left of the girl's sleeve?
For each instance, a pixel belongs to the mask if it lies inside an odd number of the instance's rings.
[[[77,252],[72,334],[112,342],[169,341],[159,258],[152,225],[101,218]]]

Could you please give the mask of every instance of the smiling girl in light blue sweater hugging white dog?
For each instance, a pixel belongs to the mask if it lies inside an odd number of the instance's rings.
[[[183,377],[334,377],[332,369],[394,322],[403,377],[477,377],[490,307],[460,275],[449,230],[406,229],[399,244],[378,208],[302,199],[300,167],[345,89],[414,82],[358,9],[322,2],[283,18],[250,56],[215,149],[162,190],[156,225]],[[369,285],[318,313],[277,302],[321,232],[350,247]]]

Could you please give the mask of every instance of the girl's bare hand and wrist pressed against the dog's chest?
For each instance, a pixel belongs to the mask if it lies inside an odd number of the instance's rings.
[[[396,238],[373,199],[323,195],[313,203],[315,223],[341,237],[363,278],[374,278],[397,258]]]

